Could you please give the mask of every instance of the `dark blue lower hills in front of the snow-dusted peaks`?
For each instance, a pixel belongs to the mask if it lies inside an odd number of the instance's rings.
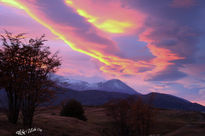
[[[134,96],[136,99],[140,97],[146,103],[151,102],[156,108],[205,112],[204,106],[169,94],[149,93],[147,95],[130,95],[99,90],[75,91],[66,88],[58,88],[57,90],[61,90],[64,93],[58,94],[55,104],[59,104],[61,101],[68,99],[76,99],[83,105],[95,106],[102,105],[110,100],[125,99],[129,96]]]

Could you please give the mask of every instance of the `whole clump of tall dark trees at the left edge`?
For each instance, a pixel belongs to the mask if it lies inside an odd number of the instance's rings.
[[[44,46],[44,36],[22,42],[24,34],[13,36],[6,32],[2,36],[3,48],[0,50],[0,84],[6,89],[9,99],[9,115],[15,120],[21,108],[24,126],[31,126],[35,108],[51,100],[53,82],[48,74],[56,72],[60,66],[57,53],[53,55]],[[6,80],[5,80],[6,79]],[[6,83],[5,83],[6,82]],[[10,118],[9,116],[9,118]],[[9,119],[10,120],[10,119]]]

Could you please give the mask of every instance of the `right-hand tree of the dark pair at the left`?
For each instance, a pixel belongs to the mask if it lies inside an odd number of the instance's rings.
[[[51,55],[49,48],[44,46],[44,36],[30,39],[29,44],[22,49],[26,55],[25,89],[22,98],[22,114],[25,126],[32,125],[35,108],[42,102],[51,100],[53,90],[52,81],[48,74],[55,72],[60,66],[57,54]]]

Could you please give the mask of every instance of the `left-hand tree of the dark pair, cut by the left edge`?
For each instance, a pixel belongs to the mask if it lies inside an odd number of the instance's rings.
[[[18,120],[21,105],[21,87],[22,73],[19,71],[20,63],[20,46],[23,34],[13,36],[6,32],[1,35],[2,46],[0,48],[0,86],[4,88],[8,97],[8,120],[16,123]]]

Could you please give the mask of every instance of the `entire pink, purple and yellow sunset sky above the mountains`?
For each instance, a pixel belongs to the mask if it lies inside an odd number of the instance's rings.
[[[0,0],[0,32],[46,34],[58,74],[205,105],[205,0]]]

